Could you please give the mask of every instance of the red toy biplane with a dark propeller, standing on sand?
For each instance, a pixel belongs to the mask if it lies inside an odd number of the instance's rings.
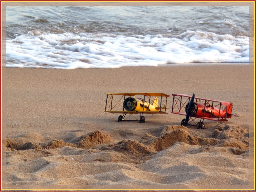
[[[194,102],[194,100],[196,100]],[[227,118],[237,116],[232,114],[233,104],[223,101],[202,99],[185,94],[173,94],[172,113],[185,115],[186,118],[181,121],[181,125],[196,126],[197,129],[205,129],[203,121],[205,119],[213,121],[228,121]],[[196,123],[195,119],[200,118]],[[190,123],[194,124],[190,124]]]

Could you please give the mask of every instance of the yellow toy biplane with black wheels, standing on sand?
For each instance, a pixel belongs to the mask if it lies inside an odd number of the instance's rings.
[[[143,114],[167,114],[166,109],[168,109],[168,107],[166,107],[166,104],[167,98],[170,95],[164,93],[105,94],[107,95],[105,112],[123,114],[118,117],[118,122],[140,121],[140,123],[143,123],[145,122]],[[135,99],[135,95],[143,95],[144,97]],[[140,120],[133,116],[134,114],[140,114]],[[130,116],[133,116],[134,120],[127,120]]]

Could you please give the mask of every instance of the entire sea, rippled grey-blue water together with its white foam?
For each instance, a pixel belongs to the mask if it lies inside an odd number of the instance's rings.
[[[8,6],[7,67],[249,63],[249,7]]]

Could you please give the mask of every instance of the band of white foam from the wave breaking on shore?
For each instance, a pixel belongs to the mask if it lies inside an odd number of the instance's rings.
[[[36,35],[35,35],[36,34]],[[249,62],[249,37],[186,31],[181,35],[28,33],[7,40],[7,67],[57,69]]]

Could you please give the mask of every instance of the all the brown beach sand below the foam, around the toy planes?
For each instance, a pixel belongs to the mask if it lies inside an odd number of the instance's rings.
[[[250,70],[7,68],[2,189],[253,189]],[[205,121],[205,130],[180,126],[171,109],[118,122],[104,112],[105,92],[195,93],[233,102],[239,117]]]

